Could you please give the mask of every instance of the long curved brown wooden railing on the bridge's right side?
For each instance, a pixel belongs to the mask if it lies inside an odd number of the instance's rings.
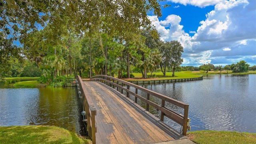
[[[160,110],[161,114],[160,114],[160,120],[164,121],[164,116],[170,118],[171,120],[173,120],[174,122],[177,122],[178,124],[180,124],[183,128],[182,128],[182,134],[186,136],[186,132],[188,129],[188,104],[185,104],[183,102],[180,102],[178,100],[175,100],[173,98],[170,98],[168,96],[165,96],[163,94],[159,94],[157,92],[154,92],[152,90],[148,90],[146,88],[143,88],[141,86],[138,86],[136,84],[132,84],[130,82],[124,81],[124,80],[120,80],[118,78],[114,78],[111,76],[106,76],[106,75],[97,75],[97,76],[92,76],[92,78],[90,78],[91,81],[99,81],[99,82],[104,82],[105,84],[110,84],[110,86],[112,86],[113,88],[117,88],[117,90],[119,90],[119,88],[121,89],[121,93],[123,93],[123,90],[126,91],[126,96],[129,98],[129,94],[135,96],[135,100],[134,102],[137,103],[138,98],[144,102],[146,102],[146,110],[149,111],[149,105],[153,106],[154,108],[156,108],[157,110]],[[120,86],[121,85],[121,86]],[[127,88],[124,88],[123,86],[126,85]],[[134,87],[135,88],[135,92],[132,92],[130,90],[130,87]],[[138,90],[141,90],[142,92],[146,92],[147,96],[146,98],[138,95]],[[155,96],[157,98],[161,99],[161,105],[158,105],[152,101],[150,101],[150,96]],[[178,114],[177,112],[174,112],[173,110],[170,110],[168,108],[165,107],[166,102],[169,102],[171,104],[174,104],[180,108],[184,109],[184,113],[182,114]]]

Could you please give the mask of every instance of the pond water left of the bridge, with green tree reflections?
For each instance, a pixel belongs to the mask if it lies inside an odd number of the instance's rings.
[[[58,126],[84,135],[76,87],[3,88],[11,83],[0,82],[0,126]]]

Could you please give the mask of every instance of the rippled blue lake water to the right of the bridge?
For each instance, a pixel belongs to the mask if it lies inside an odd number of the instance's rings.
[[[256,133],[256,75],[205,75],[204,80],[199,81],[141,86],[189,104],[191,131]],[[176,106],[166,107],[183,114],[183,109]],[[151,113],[157,114],[157,111],[151,109]],[[164,122],[180,130],[180,125],[171,120],[165,118]]]

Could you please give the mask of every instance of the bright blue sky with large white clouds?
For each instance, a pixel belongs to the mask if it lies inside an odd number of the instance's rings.
[[[148,14],[163,41],[178,40],[181,66],[241,60],[256,65],[256,0],[166,0],[162,17]],[[171,6],[164,8],[163,5]]]

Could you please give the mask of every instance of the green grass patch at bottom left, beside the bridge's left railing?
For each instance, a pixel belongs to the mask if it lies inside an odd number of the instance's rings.
[[[88,144],[74,132],[56,126],[0,127],[0,144]]]

